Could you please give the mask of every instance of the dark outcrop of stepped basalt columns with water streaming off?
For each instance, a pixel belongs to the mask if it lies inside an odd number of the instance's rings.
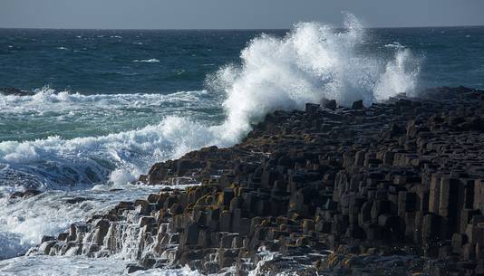
[[[129,252],[140,261],[129,271],[477,275],[483,164],[484,91],[308,104],[267,115],[233,148],[202,148],[140,177],[201,185],[120,203],[30,253]]]

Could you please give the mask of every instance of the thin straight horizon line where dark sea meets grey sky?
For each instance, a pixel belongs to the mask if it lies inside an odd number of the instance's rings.
[[[421,25],[421,26],[393,26],[393,27],[364,27],[364,29],[421,29],[421,28],[472,28],[484,27],[484,24],[462,24],[462,25]],[[337,29],[344,29],[338,26]],[[286,31],[289,28],[55,28],[55,27],[0,27],[0,30],[53,30],[53,31]]]

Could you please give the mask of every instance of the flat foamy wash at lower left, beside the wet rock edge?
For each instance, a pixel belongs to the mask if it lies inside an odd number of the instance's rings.
[[[193,185],[191,185],[193,186]],[[111,188],[121,190],[111,190]],[[41,242],[44,235],[57,235],[70,224],[92,214],[102,214],[120,201],[133,201],[166,186],[94,186],[82,191],[48,190],[27,199],[0,199],[0,260],[22,254]],[[171,186],[185,188],[185,186]],[[68,204],[68,199],[85,201]]]

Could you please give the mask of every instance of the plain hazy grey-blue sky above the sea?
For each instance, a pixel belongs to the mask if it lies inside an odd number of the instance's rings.
[[[0,0],[0,28],[286,29],[342,12],[369,27],[484,25],[484,0]]]

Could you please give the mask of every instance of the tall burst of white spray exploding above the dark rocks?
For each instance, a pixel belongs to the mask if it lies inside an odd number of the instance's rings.
[[[282,38],[263,34],[242,51],[240,66],[226,66],[210,78],[227,93],[225,135],[240,138],[268,112],[303,109],[322,98],[369,105],[411,91],[419,62],[410,51],[397,52],[391,61],[359,53],[368,36],[352,14],[345,17],[343,31],[302,23]]]

